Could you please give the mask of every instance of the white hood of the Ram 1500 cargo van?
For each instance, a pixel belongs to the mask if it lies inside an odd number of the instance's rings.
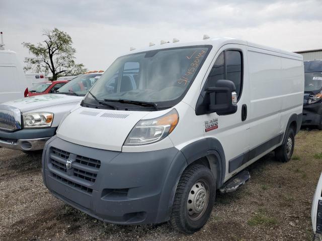
[[[148,113],[81,107],[65,117],[57,137],[81,146],[120,152],[132,128]]]

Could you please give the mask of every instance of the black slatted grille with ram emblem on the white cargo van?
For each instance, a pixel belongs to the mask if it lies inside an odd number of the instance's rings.
[[[68,170],[66,162],[70,157],[73,161],[71,168]],[[101,167],[101,161],[99,160],[70,154],[69,152],[57,148],[51,149],[50,163],[55,170],[68,174],[76,179],[83,179],[89,182],[90,185],[95,183],[98,171]]]

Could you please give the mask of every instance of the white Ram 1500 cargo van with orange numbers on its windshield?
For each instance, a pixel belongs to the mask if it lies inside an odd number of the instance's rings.
[[[291,159],[303,89],[301,55],[243,40],[131,51],[46,143],[44,183],[100,220],[170,221],[193,233],[216,189],[234,190],[243,169],[273,150]]]

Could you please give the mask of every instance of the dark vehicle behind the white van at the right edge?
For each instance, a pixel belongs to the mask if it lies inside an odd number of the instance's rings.
[[[304,62],[305,85],[302,126],[322,130],[322,60]]]

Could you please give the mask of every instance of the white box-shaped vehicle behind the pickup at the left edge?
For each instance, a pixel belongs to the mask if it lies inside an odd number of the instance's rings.
[[[28,84],[14,51],[5,50],[0,32],[0,103],[23,98],[28,94]]]

